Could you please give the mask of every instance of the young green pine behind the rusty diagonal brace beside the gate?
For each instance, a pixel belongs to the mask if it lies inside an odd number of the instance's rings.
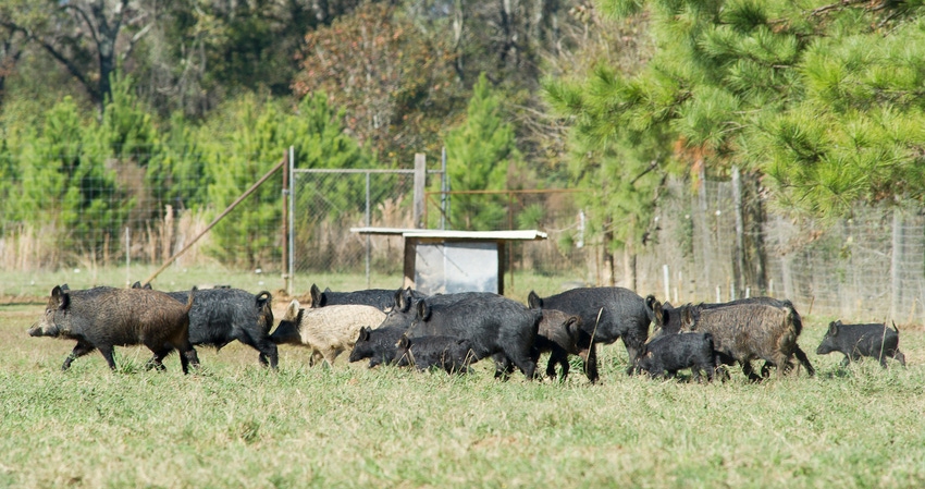
[[[373,163],[368,152],[344,134],[338,122],[342,113],[328,106],[323,94],[306,97],[296,113],[288,113],[278,100],[250,95],[223,110],[222,124],[201,130],[211,139],[200,137],[208,140],[202,150],[210,181],[209,204],[214,212],[222,211],[278,163],[289,145],[297,149],[296,161],[303,168],[369,168]],[[325,193],[355,203],[353,208],[361,207],[361,187],[337,185],[336,192],[326,188]],[[280,221],[280,192],[281,179],[261,185],[234,210],[233,217],[214,228],[211,253],[224,262],[251,268],[276,262],[278,247],[271,244],[278,236],[264,229],[268,223]]]

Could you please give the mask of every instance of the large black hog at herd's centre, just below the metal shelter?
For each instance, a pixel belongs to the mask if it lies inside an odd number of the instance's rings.
[[[532,347],[542,319],[540,310],[531,310],[518,302],[488,292],[473,292],[452,304],[418,302],[418,314],[408,338],[455,337],[471,342],[473,362],[492,356],[495,377],[506,377],[513,363],[532,379],[536,370]]]

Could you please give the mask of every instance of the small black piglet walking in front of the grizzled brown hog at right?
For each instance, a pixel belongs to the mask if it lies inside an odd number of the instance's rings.
[[[713,381],[716,356],[713,335],[710,333],[664,334],[650,341],[639,357],[638,367],[653,379],[667,372],[675,377],[678,370],[690,368],[693,379],[700,381],[701,371]]]

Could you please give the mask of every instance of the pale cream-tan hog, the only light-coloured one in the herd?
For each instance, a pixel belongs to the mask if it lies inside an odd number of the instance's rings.
[[[385,313],[372,306],[333,305],[304,309],[294,299],[286,307],[280,326],[270,334],[270,341],[311,349],[309,365],[322,358],[328,365],[334,365],[337,355],[354,347],[361,328],[379,328],[384,319]]]

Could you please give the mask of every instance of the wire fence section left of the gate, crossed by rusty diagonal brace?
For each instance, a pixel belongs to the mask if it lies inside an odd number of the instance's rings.
[[[85,289],[143,281],[206,231],[242,192],[231,188],[230,196],[219,199],[201,179],[158,175],[135,160],[107,161],[106,178],[66,175],[53,169],[0,171],[0,301],[46,297],[65,282]],[[257,171],[267,171],[272,163],[267,161]],[[28,164],[33,163],[17,161],[15,167]],[[273,175],[261,186],[262,195],[242,201],[227,220],[193,244],[155,286],[234,283],[258,291],[278,286],[281,281],[269,277],[282,270],[284,203],[268,196],[280,195],[281,176]],[[246,223],[246,229],[231,223]]]

